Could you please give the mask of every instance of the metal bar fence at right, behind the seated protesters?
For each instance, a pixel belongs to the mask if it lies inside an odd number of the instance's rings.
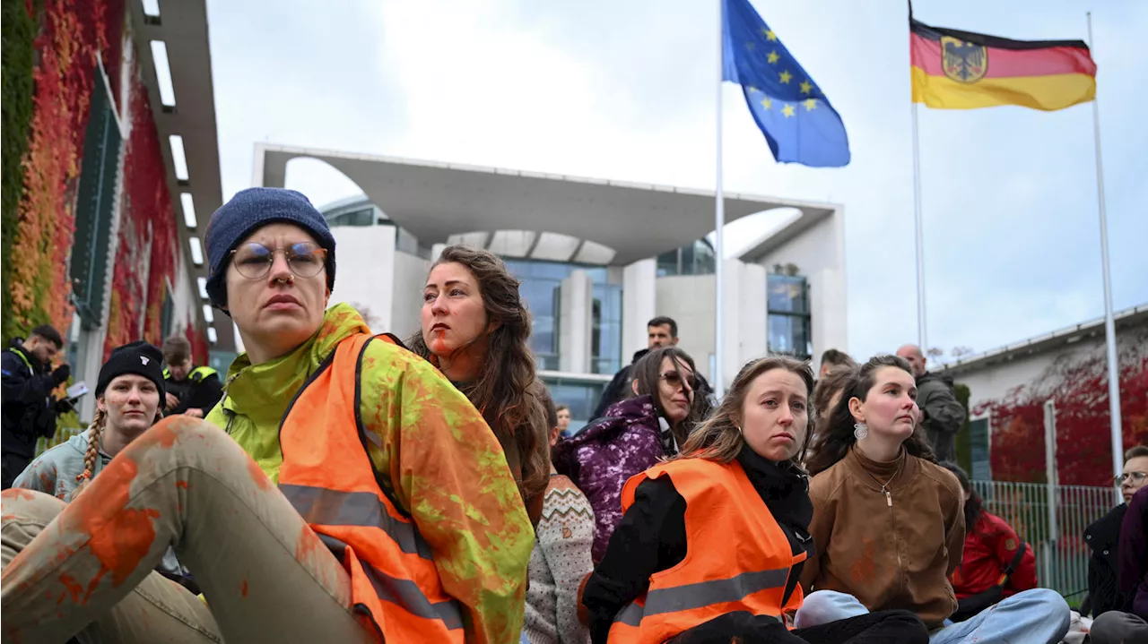
[[[1032,545],[1040,586],[1083,599],[1089,556],[1084,531],[1116,504],[1114,489],[1010,481],[972,481],[972,486],[985,509]]]

